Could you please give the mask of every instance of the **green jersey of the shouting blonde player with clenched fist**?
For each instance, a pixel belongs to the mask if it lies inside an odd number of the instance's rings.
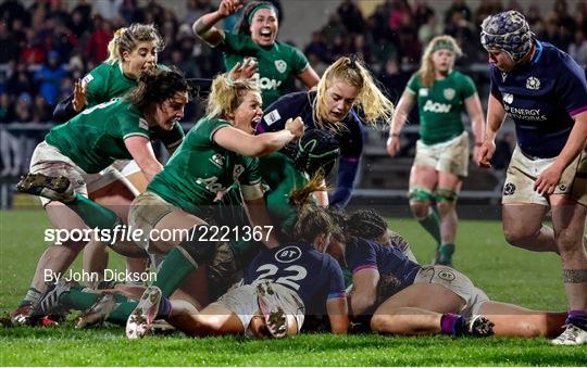
[[[259,160],[226,150],[213,140],[214,134],[230,123],[204,117],[187,134],[163,170],[147,190],[184,211],[201,216],[203,206],[214,202],[218,191],[238,182],[252,186],[261,181]]]

